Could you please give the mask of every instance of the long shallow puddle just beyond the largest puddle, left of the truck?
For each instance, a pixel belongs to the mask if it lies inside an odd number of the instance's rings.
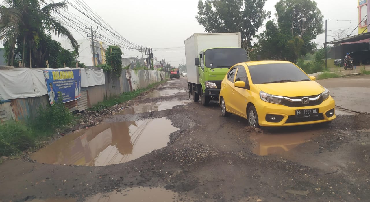
[[[172,109],[174,106],[177,105],[186,105],[191,100],[169,100],[164,102],[157,102],[157,103],[149,103],[145,105],[137,105],[132,106],[125,109],[123,112],[118,114],[138,114],[138,113],[145,113],[145,112],[155,112],[161,110]]]

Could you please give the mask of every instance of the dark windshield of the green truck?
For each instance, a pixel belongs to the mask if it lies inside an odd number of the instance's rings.
[[[248,62],[243,48],[215,48],[205,51],[205,65],[208,68],[230,68],[239,62]]]

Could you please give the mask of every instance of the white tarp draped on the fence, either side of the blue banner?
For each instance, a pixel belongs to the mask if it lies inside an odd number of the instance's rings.
[[[47,94],[45,68],[0,68],[0,97],[4,100],[40,97]],[[75,68],[61,68],[75,69]],[[102,69],[81,69],[81,87],[105,84]]]

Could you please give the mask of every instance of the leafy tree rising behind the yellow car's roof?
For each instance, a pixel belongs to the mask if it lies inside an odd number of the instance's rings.
[[[266,23],[266,30],[257,37],[256,52],[269,59],[297,62],[317,47],[312,40],[324,32],[323,15],[313,0],[280,0],[275,8],[277,22]]]

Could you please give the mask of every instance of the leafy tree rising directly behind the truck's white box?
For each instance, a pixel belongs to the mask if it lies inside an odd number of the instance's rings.
[[[198,2],[195,17],[206,32],[241,32],[242,45],[247,48],[250,40],[270,17],[263,10],[266,0],[203,0]]]

